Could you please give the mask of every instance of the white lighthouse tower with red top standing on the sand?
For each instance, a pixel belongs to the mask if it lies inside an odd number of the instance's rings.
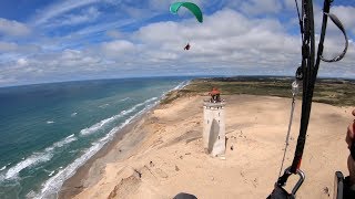
[[[212,156],[225,153],[225,102],[217,88],[210,92],[211,98],[203,103],[203,147]]]

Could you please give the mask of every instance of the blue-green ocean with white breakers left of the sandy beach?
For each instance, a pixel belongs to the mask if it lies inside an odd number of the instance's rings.
[[[0,198],[55,198],[63,181],[186,77],[0,88]]]

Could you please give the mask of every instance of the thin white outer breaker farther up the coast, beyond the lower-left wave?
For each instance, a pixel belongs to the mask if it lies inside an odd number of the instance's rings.
[[[129,97],[126,97],[126,98],[129,98]],[[101,122],[99,122],[99,123],[97,123],[97,124],[94,124],[94,125],[92,125],[92,126],[90,126],[88,128],[84,128],[84,129],[80,130],[80,134],[81,135],[93,134],[93,133],[102,129],[102,127],[104,127],[105,125],[112,123],[113,121],[116,121],[116,119],[119,119],[119,118],[121,118],[121,117],[134,112],[136,108],[139,108],[141,106],[144,106],[144,105],[146,105],[146,104],[149,104],[149,103],[151,103],[152,101],[155,101],[155,100],[156,100],[156,97],[152,97],[152,98],[149,98],[149,100],[144,101],[143,103],[136,104],[133,107],[131,107],[130,109],[122,111],[118,115],[114,115],[114,116],[112,116],[110,118],[105,118],[105,119],[103,119],[103,121],[101,121]]]

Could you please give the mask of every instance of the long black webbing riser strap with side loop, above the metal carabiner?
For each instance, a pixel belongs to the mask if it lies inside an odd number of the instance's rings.
[[[296,0],[295,2],[297,6]],[[284,186],[288,177],[292,174],[296,174],[296,171],[301,166],[301,160],[302,160],[303,150],[304,150],[305,140],[306,140],[306,133],[307,133],[307,127],[310,122],[311,108],[312,108],[313,91],[314,91],[314,85],[315,85],[321,60],[325,62],[336,62],[342,60],[347,51],[348,41],[347,41],[345,29],[342,22],[334,14],[329,13],[332,2],[333,0],[324,0],[322,32],[321,32],[320,43],[318,43],[318,51],[316,54],[316,61],[315,61],[313,2],[312,0],[302,0],[302,18],[303,19],[301,19],[300,17],[300,11],[297,6],[297,14],[300,18],[300,27],[301,27],[301,34],[302,34],[302,65],[301,65],[302,75],[303,75],[302,116],[301,116],[300,134],[297,138],[294,159],[293,159],[292,166],[290,167],[290,170],[287,172],[284,172],[284,175],[278,178],[276,182],[278,187]],[[343,32],[345,38],[345,48],[343,52],[331,60],[327,60],[322,56],[328,17],[335,23],[335,25]]]

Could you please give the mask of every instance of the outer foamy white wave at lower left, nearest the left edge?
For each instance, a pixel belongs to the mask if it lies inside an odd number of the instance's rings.
[[[47,147],[44,151],[33,153],[31,156],[22,158],[22,161],[9,168],[9,170],[4,174],[4,179],[17,178],[21,170],[28,167],[33,167],[40,163],[49,161],[53,157],[53,150],[55,148],[63,147],[64,145],[68,145],[74,140],[77,140],[77,137],[74,137],[74,134],[72,134],[62,140],[54,143],[52,146]]]

